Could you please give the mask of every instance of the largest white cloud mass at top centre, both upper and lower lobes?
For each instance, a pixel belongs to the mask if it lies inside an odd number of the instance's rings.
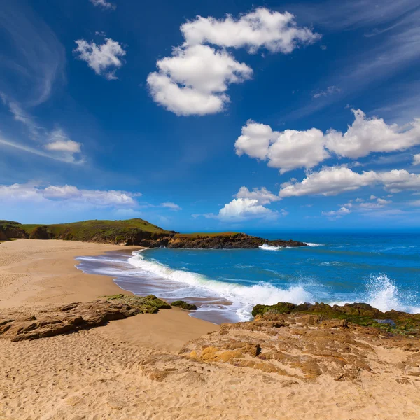
[[[230,15],[221,20],[197,16],[181,25],[181,32],[183,45],[174,48],[172,57],[158,60],[158,71],[147,78],[155,102],[179,116],[223,111],[230,102],[228,86],[251,78],[252,69],[226,48],[288,53],[319,38],[310,29],[297,27],[290,13],[266,8],[237,20]]]

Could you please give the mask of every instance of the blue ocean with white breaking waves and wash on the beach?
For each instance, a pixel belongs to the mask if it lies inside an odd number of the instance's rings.
[[[78,269],[112,276],[124,290],[197,304],[191,316],[246,321],[255,304],[366,302],[420,313],[420,234],[253,234],[309,246],[113,251],[77,258]]]

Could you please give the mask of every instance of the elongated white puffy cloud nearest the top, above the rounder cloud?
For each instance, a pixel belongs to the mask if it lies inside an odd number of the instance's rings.
[[[272,12],[267,8],[258,8],[237,20],[231,15],[221,20],[197,16],[181,25],[181,32],[186,45],[211,43],[227,48],[248,48],[251,53],[266,48],[287,54],[299,45],[320,38],[309,28],[297,27],[291,13]]]

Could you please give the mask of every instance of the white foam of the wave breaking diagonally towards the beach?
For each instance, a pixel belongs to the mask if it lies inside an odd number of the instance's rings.
[[[232,307],[235,308],[237,315],[242,320],[250,318],[252,307],[258,303],[292,302],[300,304],[314,301],[311,293],[300,285],[282,289],[262,281],[253,286],[217,281],[195,272],[172,269],[156,260],[146,260],[144,255],[139,252],[134,252],[132,258],[128,261],[134,267],[138,267],[143,271],[164,279],[183,283],[184,285],[188,284],[205,289],[212,296],[223,297],[229,300],[233,303]]]

